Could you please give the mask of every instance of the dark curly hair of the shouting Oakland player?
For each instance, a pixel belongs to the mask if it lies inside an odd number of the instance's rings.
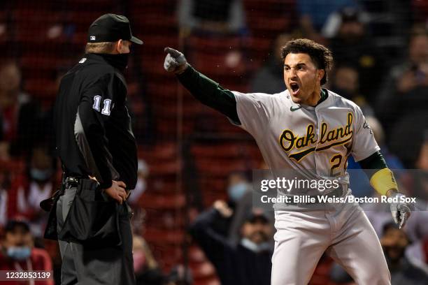
[[[289,41],[281,48],[281,58],[284,60],[289,53],[304,53],[308,54],[311,57],[313,64],[318,69],[324,69],[324,76],[321,78],[321,85],[327,83],[327,73],[333,67],[333,55],[331,51],[311,41],[308,38],[297,38],[296,40]]]

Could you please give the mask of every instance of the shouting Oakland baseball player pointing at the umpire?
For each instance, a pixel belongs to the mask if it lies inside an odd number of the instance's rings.
[[[361,109],[322,88],[333,61],[327,47],[308,39],[283,46],[287,89],[279,94],[231,92],[192,68],[181,52],[170,47],[165,52],[166,71],[175,73],[201,103],[248,131],[271,170],[346,178],[346,161],[352,155],[378,193],[403,196]],[[339,190],[338,196],[351,195],[348,182]],[[400,227],[411,214],[410,205],[400,202],[391,203],[391,211]],[[276,210],[275,217],[271,284],[307,284],[324,251],[357,284],[390,284],[378,237],[357,203],[324,210]]]

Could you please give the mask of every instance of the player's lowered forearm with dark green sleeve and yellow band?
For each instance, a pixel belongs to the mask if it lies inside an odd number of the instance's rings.
[[[383,155],[378,151],[359,161],[360,166],[369,177],[371,186],[381,195],[394,196],[398,193],[394,174],[388,168]]]

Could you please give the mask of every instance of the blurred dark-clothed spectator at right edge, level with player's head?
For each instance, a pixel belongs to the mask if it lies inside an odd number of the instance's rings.
[[[427,112],[428,34],[416,31],[408,45],[408,59],[392,68],[378,98],[378,117],[390,134],[406,115]]]

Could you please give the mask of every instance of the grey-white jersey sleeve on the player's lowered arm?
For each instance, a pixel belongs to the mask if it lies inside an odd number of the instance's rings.
[[[362,110],[356,105],[355,133],[351,154],[354,156],[355,161],[362,161],[378,150],[380,150],[380,147],[373,136],[373,131],[367,124]]]

